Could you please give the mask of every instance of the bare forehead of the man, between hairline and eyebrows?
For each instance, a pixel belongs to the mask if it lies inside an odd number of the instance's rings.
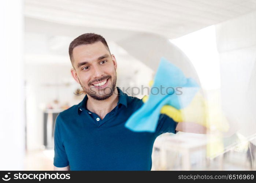
[[[93,44],[79,45],[73,49],[74,63],[93,61],[105,54],[110,55],[107,47],[100,41]]]

